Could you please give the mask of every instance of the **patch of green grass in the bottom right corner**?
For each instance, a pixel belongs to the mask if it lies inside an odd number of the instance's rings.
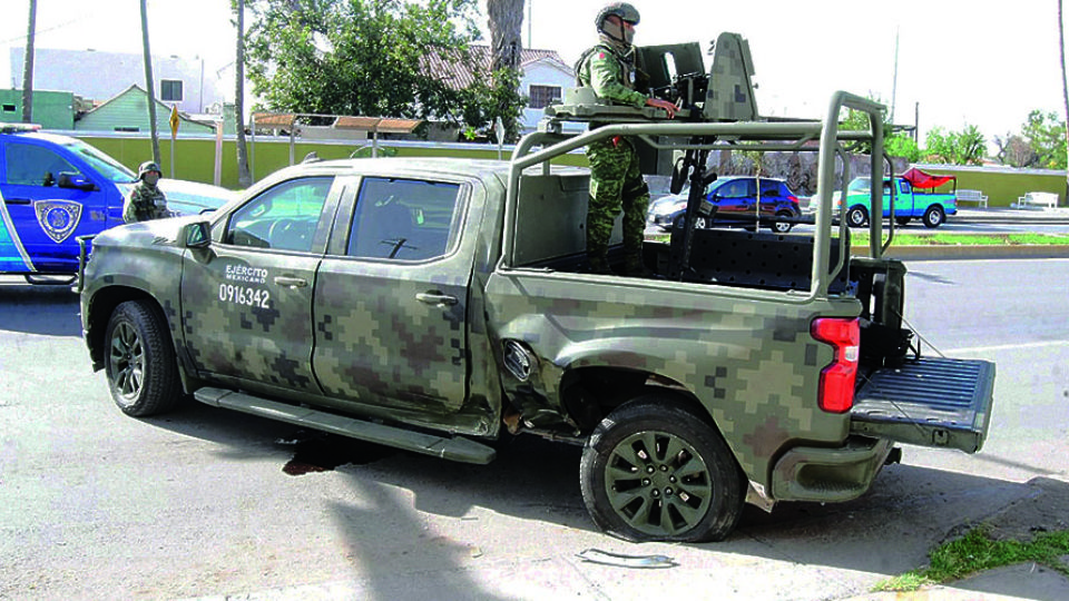
[[[961,580],[970,574],[1036,562],[1069,577],[1069,568],[1059,561],[1069,554],[1069,530],[1037,535],[1030,542],[997,541],[987,526],[970,530],[964,536],[936,546],[926,568],[877,583],[875,591],[915,591],[930,584]]]

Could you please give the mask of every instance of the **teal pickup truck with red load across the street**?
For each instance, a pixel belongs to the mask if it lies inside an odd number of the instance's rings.
[[[958,214],[958,200],[953,193],[939,194],[918,191],[920,188],[909,178],[895,177],[892,189],[891,180],[883,180],[883,196],[887,204],[883,208],[883,216],[891,217],[891,207],[894,207],[894,221],[904,226],[913,219],[920,219],[925,227],[939,227],[947,220],[948,215]],[[834,195],[833,210],[838,213],[845,205],[846,224],[850,227],[863,227],[872,215],[872,180],[869,177],[857,177],[846,187],[846,201],[842,201],[841,193]]]

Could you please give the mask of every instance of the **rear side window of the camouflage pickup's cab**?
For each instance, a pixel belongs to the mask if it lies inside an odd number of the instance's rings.
[[[459,196],[458,184],[364,178],[346,254],[399,260],[444,255]]]

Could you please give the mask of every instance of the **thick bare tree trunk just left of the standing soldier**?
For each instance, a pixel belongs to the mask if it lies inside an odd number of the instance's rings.
[[[496,106],[493,118],[500,117],[504,125],[506,139],[518,137],[517,118],[519,112],[510,114],[512,93],[518,88],[520,72],[520,50],[522,49],[523,0],[487,0],[487,13],[490,17],[490,71],[493,73],[494,96],[500,104]]]

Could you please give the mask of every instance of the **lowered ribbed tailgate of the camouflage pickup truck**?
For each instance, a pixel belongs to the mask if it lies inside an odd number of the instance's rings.
[[[975,453],[991,421],[994,364],[921,358],[875,372],[854,396],[854,434]]]

